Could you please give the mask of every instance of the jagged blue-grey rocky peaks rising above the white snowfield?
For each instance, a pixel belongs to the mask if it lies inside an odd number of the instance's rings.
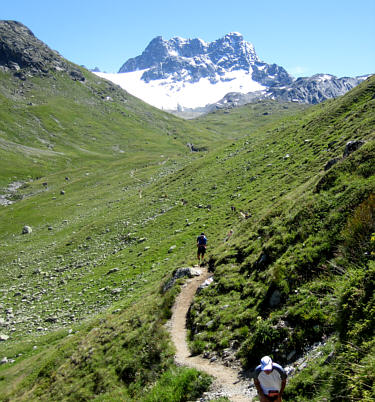
[[[231,32],[209,43],[199,38],[164,40],[157,36],[140,56],[125,62],[119,73],[144,70],[141,79],[146,83],[163,79],[194,83],[201,78],[215,83],[230,79],[226,75],[232,71],[243,70],[250,74],[250,78],[254,71],[253,80],[263,85],[271,68],[272,80],[277,84],[292,81],[282,67],[276,67],[262,63],[254,46],[246,42],[240,33]]]

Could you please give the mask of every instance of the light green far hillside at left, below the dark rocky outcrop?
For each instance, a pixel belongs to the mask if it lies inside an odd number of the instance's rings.
[[[145,166],[187,154],[187,142],[225,141],[82,72],[84,83],[57,72],[24,82],[0,74],[0,184],[119,160]]]

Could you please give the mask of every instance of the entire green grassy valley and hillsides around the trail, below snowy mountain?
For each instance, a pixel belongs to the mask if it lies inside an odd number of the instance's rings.
[[[373,401],[374,157],[375,76],[183,120],[1,21],[0,401],[204,398],[168,330],[187,279],[166,286],[201,232],[193,355],[269,355],[285,401]]]

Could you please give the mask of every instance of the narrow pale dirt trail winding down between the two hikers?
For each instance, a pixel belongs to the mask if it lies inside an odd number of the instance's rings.
[[[212,275],[206,268],[199,269],[202,274],[187,281],[173,306],[170,332],[176,347],[175,361],[179,365],[193,367],[215,377],[212,389],[232,402],[252,401],[255,393],[253,389],[249,389],[249,384],[252,383],[250,379],[240,378],[237,370],[218,362],[190,355],[186,341],[186,315],[198,287]]]

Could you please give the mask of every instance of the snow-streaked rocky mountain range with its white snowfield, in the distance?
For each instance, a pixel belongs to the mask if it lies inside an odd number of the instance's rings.
[[[320,103],[343,95],[366,78],[315,74],[295,79],[283,67],[261,61],[253,44],[238,32],[212,42],[157,36],[118,74],[98,75],[180,117],[264,98]]]

